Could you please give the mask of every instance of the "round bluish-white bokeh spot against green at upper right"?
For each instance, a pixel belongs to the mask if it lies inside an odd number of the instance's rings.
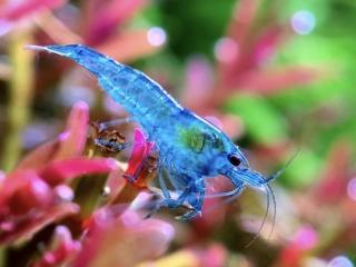
[[[290,19],[293,30],[301,36],[310,33],[315,28],[315,22],[314,13],[308,10],[297,11]]]

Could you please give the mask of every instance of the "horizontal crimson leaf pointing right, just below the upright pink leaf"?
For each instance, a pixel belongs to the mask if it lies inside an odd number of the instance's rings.
[[[117,168],[116,160],[111,158],[76,158],[55,161],[39,174],[49,185],[57,186],[76,177],[110,172]]]

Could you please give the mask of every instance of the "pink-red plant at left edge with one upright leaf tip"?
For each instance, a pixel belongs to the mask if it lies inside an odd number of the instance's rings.
[[[117,168],[107,158],[81,156],[87,138],[88,107],[80,102],[65,134],[28,155],[7,174],[0,187],[0,243],[29,238],[46,225],[79,211],[72,202],[71,179]],[[73,140],[77,140],[73,146]]]

